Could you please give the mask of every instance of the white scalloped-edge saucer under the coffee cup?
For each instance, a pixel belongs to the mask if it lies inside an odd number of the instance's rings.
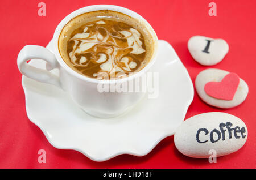
[[[49,50],[52,44],[47,45]],[[45,68],[32,59],[30,65]],[[175,50],[159,40],[153,72],[159,72],[159,96],[147,96],[129,112],[109,119],[92,117],[61,89],[22,76],[28,118],[59,149],[74,149],[94,161],[121,154],[144,156],[174,134],[193,100],[193,84]],[[58,74],[58,70],[52,72]]]

